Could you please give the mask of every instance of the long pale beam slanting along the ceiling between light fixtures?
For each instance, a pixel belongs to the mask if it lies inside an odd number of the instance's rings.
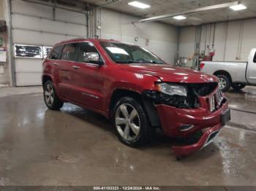
[[[216,4],[216,5],[211,5],[211,6],[208,6],[208,7],[200,7],[200,8],[196,8],[196,9],[190,9],[190,10],[187,10],[187,11],[184,11],[184,12],[176,12],[176,13],[172,13],[172,14],[159,15],[159,16],[155,16],[155,17],[148,17],[148,18],[141,19],[138,22],[133,22],[133,23],[145,23],[145,22],[163,20],[163,19],[167,19],[169,17],[178,16],[178,15],[188,15],[188,14],[208,11],[208,10],[212,10],[212,9],[222,9],[222,8],[230,7],[230,6],[237,5],[237,4],[239,4],[239,1],[233,1],[233,2],[225,3],[225,4]]]

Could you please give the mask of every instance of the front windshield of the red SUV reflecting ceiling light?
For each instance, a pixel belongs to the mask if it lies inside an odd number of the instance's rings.
[[[164,63],[148,50],[132,44],[119,42],[100,42],[100,44],[116,63]]]

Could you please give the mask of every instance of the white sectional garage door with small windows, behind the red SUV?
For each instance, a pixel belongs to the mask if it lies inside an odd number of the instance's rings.
[[[42,59],[53,44],[86,37],[86,14],[12,0],[15,85],[41,85]]]

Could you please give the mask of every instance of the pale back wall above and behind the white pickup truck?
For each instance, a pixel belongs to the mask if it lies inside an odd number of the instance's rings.
[[[195,26],[181,28],[180,56],[195,52]],[[249,51],[256,47],[256,19],[237,20],[202,26],[200,52],[214,43],[214,61],[247,61]]]

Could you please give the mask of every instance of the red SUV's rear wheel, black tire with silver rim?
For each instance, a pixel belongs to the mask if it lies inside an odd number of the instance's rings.
[[[58,97],[53,82],[48,80],[43,85],[45,105],[48,109],[59,110],[64,102]]]

